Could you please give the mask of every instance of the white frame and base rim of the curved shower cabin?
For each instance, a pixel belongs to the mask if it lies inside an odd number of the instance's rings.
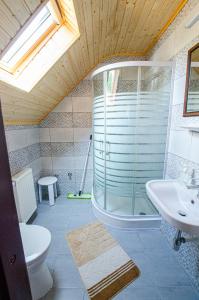
[[[171,67],[172,68],[172,80],[171,80],[171,89],[170,89],[170,101],[169,101],[169,114],[168,114],[168,126],[167,126],[167,135],[166,135],[166,147],[165,147],[165,161],[166,161],[166,153],[168,150],[168,137],[169,137],[169,126],[170,126],[170,118],[171,118],[171,101],[172,101],[172,91],[173,91],[173,63],[172,62],[162,62],[162,61],[123,61],[117,63],[111,63],[109,65],[102,66],[96,69],[92,75],[91,79],[93,79],[96,75],[103,73],[103,89],[104,89],[104,98],[106,97],[106,80],[107,80],[107,71],[125,68],[125,67],[138,67],[138,74],[141,71],[142,66],[148,67]],[[138,75],[139,77],[139,75]],[[139,84],[139,83],[138,83]],[[92,84],[93,87],[93,84]],[[94,91],[93,91],[94,95]],[[106,113],[106,112],[105,112]],[[93,119],[94,120],[94,119]],[[93,126],[94,129],[94,126]],[[94,137],[94,132],[92,133]],[[163,169],[163,178],[165,178],[165,161],[164,161],[164,169]],[[106,164],[106,159],[105,159]],[[93,147],[93,170],[94,170],[94,147]],[[106,172],[105,172],[105,180],[106,180]],[[106,185],[104,195],[106,196]],[[106,197],[105,197],[106,198]],[[103,223],[115,227],[120,227],[123,229],[133,229],[133,228],[158,228],[161,224],[160,215],[130,215],[130,216],[120,216],[115,215],[106,210],[106,201],[105,208],[99,206],[97,201],[95,200],[94,193],[92,192],[92,205],[93,211],[96,217],[102,221]]]

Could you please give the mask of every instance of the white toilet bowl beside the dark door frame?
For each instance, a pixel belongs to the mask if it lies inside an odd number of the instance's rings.
[[[43,297],[53,286],[52,276],[45,263],[51,242],[48,229],[20,223],[20,232],[28,269],[33,300]]]

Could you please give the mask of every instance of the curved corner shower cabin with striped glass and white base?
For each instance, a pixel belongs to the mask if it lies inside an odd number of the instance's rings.
[[[171,63],[127,61],[93,75],[93,207],[103,222],[156,227],[145,184],[164,178]]]

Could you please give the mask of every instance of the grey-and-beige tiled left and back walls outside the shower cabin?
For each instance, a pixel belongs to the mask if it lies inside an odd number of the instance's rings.
[[[140,60],[138,57],[115,57],[99,66],[138,59]],[[64,98],[40,126],[7,126],[5,128],[12,175],[25,167],[31,167],[35,182],[40,176],[54,174],[58,176],[61,194],[69,191],[77,192],[91,127],[92,86],[91,80],[86,78],[68,97]],[[92,189],[91,156],[92,149],[85,192],[91,192]]]

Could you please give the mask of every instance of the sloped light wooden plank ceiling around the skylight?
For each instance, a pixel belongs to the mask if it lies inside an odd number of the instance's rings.
[[[68,1],[58,1],[63,15]],[[0,49],[40,2],[0,0]],[[80,38],[31,92],[0,82],[5,123],[38,124],[98,63],[114,56],[147,55],[186,2],[73,0]]]

